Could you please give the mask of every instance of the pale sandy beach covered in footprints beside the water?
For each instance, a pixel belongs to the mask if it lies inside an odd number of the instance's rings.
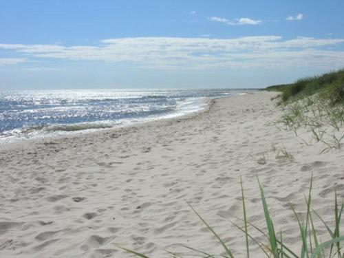
[[[186,200],[244,257],[244,235],[229,222],[242,217],[240,175],[248,219],[265,226],[258,176],[277,230],[298,251],[289,203],[305,211],[313,173],[313,208],[332,222],[334,189],[344,197],[344,152],[320,155],[321,144],[301,140],[307,131],[296,138],[268,125],[282,112],[275,95],[219,98],[182,118],[1,145],[0,257],[132,257],[115,244],[150,257],[189,252],[181,244],[223,253]],[[295,160],[275,158],[272,144]],[[258,164],[266,151],[266,164]],[[264,257],[254,244],[251,252]]]

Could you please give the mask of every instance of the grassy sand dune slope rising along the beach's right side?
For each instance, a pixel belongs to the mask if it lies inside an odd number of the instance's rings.
[[[303,78],[289,85],[274,85],[266,90],[281,92],[274,98],[283,106],[283,115],[274,123],[279,129],[292,131],[299,136],[299,129],[310,132],[307,145],[321,142],[319,153],[326,153],[343,146],[344,133],[344,69],[321,76]]]

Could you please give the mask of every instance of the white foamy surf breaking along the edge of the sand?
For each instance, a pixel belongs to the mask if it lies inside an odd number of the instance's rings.
[[[28,127],[18,127],[8,129],[6,134],[2,134],[0,137],[0,145],[11,144],[15,142],[22,142],[25,140],[44,140],[47,138],[58,138],[65,136],[78,136],[83,133],[93,133],[107,129],[120,129],[123,127],[130,127],[131,125],[138,125],[146,122],[152,122],[155,120],[178,118],[181,116],[187,116],[189,114],[197,113],[204,109],[208,109],[208,102],[215,98],[226,98],[227,96],[235,96],[242,94],[243,92],[253,92],[256,89],[226,89],[229,92],[220,94],[219,96],[198,96],[192,97],[188,96],[184,100],[178,100],[175,108],[171,113],[154,115],[151,114],[147,117],[137,117],[137,118],[116,118],[114,120],[91,120],[91,121],[76,121],[74,123],[63,123],[63,120],[58,123],[46,123],[43,125],[30,125]],[[211,92],[211,90],[209,90]],[[200,89],[202,92],[202,89]],[[233,95],[234,94],[234,95]],[[168,94],[167,94],[168,95]],[[148,96],[149,97],[149,96]],[[160,97],[160,96],[159,96]],[[147,98],[147,96],[142,96],[142,98]],[[197,105],[190,105],[188,103],[197,103]],[[172,107],[172,106],[171,106]],[[191,109],[190,109],[191,107]],[[124,111],[124,114],[126,112]],[[21,122],[21,121],[19,121]],[[6,120],[5,120],[6,123]]]

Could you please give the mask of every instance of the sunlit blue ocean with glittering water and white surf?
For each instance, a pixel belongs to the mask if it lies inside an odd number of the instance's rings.
[[[0,92],[0,144],[182,116],[235,89],[92,89]]]

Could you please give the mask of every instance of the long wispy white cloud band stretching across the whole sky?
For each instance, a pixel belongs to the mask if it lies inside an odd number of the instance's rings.
[[[344,66],[344,52],[328,50],[343,45],[344,39],[281,36],[247,36],[236,39],[141,37],[105,39],[98,45],[0,44],[7,54],[23,55],[28,61],[63,59],[131,63],[158,69],[222,69],[249,67],[327,67]],[[340,48],[338,48],[340,49]],[[25,58],[1,58],[7,63]],[[0,62],[1,62],[0,59]],[[12,59],[12,61],[9,61]]]

